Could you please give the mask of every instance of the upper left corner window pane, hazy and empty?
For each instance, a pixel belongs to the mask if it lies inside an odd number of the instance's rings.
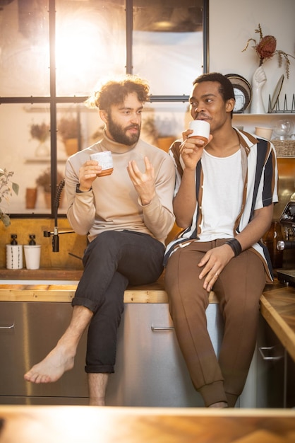
[[[4,2],[1,9],[0,95],[48,96],[48,1]]]

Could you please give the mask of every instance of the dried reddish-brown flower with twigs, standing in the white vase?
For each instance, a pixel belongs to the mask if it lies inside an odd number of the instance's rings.
[[[261,29],[260,23],[258,24],[258,29],[255,29],[255,33],[258,33],[260,35],[259,42],[257,43],[254,38],[249,38],[246,47],[244,47],[242,52],[246,51],[249,43],[252,41],[255,43],[253,48],[255,49],[259,57],[259,66],[261,66],[263,62],[265,62],[265,60],[271,59],[275,54],[277,54],[279,57],[279,67],[281,67],[284,58],[287,79],[289,79],[289,57],[292,57],[293,59],[295,57],[293,57],[293,55],[287,54],[287,52],[284,52],[282,50],[277,50],[277,39],[273,35],[265,35],[265,37],[263,37],[263,31]]]

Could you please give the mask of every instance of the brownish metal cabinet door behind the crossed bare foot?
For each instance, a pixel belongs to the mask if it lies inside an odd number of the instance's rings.
[[[56,345],[71,313],[68,303],[0,302],[1,397],[88,397],[85,336],[80,342],[74,369],[59,381],[33,384],[23,379],[23,374]]]

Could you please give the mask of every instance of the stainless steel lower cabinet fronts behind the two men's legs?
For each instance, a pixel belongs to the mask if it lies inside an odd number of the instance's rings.
[[[88,404],[86,334],[75,367],[54,384],[31,384],[23,374],[54,347],[71,318],[71,305],[0,302],[0,403]],[[215,351],[222,336],[218,305],[207,309]],[[116,372],[107,405],[203,406],[183,362],[167,304],[126,304],[119,328]]]

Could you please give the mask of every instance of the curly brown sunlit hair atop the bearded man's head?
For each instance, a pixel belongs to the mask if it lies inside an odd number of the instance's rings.
[[[86,100],[89,108],[99,108],[109,112],[112,105],[124,103],[126,96],[136,93],[140,103],[149,100],[150,86],[148,82],[138,76],[126,75],[118,80],[109,80],[99,91]]]

